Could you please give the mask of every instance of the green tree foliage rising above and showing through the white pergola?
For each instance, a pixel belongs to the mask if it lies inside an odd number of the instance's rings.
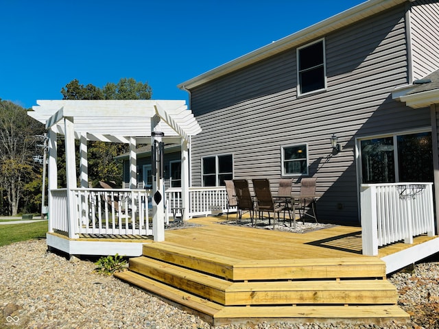
[[[61,93],[62,99],[150,99],[152,88],[147,82],[137,82],[132,77],[122,78],[117,84],[109,82],[102,89],[92,84],[84,86],[75,79],[62,88]],[[64,145],[59,145],[58,149],[61,151]],[[115,156],[126,151],[128,145],[88,142],[88,178],[93,186],[99,186],[99,180],[115,181],[121,185],[122,165],[115,160]],[[60,152],[60,162],[63,161],[63,154]],[[62,168],[62,164],[58,168]],[[58,178],[58,182],[63,181],[65,178]]]

